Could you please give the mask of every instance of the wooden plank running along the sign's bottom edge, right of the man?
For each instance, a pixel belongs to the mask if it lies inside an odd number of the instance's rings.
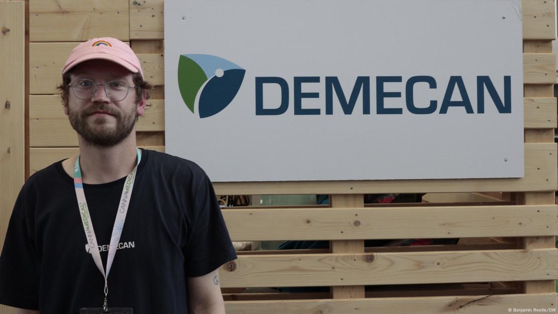
[[[555,191],[556,144],[525,144],[525,177],[494,179],[214,182],[219,195]]]

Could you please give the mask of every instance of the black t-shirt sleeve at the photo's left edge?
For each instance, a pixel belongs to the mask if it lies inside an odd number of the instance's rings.
[[[39,310],[39,263],[24,189],[13,208],[0,256],[0,303]]]

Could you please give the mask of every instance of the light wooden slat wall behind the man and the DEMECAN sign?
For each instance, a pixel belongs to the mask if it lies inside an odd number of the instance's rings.
[[[151,107],[137,125],[138,145],[164,151],[163,1],[31,0],[29,7],[29,113],[26,118],[9,117],[15,126],[25,121],[28,129],[26,175],[78,151],[55,87],[69,51],[78,42],[92,37],[111,36],[129,41],[140,56],[146,77],[156,87],[152,91]],[[558,208],[554,205],[558,167],[553,142],[557,111],[552,94],[556,64],[551,51],[555,36],[554,7],[554,0],[523,0],[522,11],[518,11],[523,16],[524,39],[525,178],[215,183],[218,194],[336,194],[331,196],[332,208],[250,208],[223,212],[233,240],[333,240],[330,253],[242,254],[234,263],[224,265],[221,272],[223,287],[331,286],[332,299],[227,301],[227,312],[430,314],[496,313],[514,307],[556,308],[556,294],[552,293],[554,279],[558,278],[558,251],[554,249],[558,233]],[[9,34],[13,35],[13,30]],[[2,40],[0,35],[0,49],[5,47]],[[5,84],[0,82],[1,96]],[[0,113],[0,126],[4,127],[7,116],[1,107]],[[10,132],[9,140],[17,141],[13,129]],[[4,134],[7,133],[2,129]],[[2,166],[6,160],[2,155],[5,138],[0,137]],[[16,163],[21,165],[22,160],[25,158],[20,156]],[[22,175],[23,170],[20,166],[10,171]],[[15,177],[9,182],[15,190],[21,186]],[[1,187],[4,195],[7,190],[4,185]],[[517,205],[363,207],[362,204],[364,193],[495,191],[515,192]],[[4,229],[0,230],[5,232],[13,201],[9,208],[4,203],[2,206],[0,228]],[[412,225],[408,223],[410,220]],[[518,237],[519,240],[517,249],[510,249],[509,243],[496,243],[459,246],[466,251],[445,251],[449,249],[446,246],[436,251],[436,246],[431,246],[426,250],[434,251],[379,250],[382,253],[364,253],[370,250],[364,250],[360,240],[407,237]],[[526,294],[424,297],[436,295],[434,291],[412,298],[362,298],[365,284],[491,280],[521,283],[521,292]],[[8,312],[0,308],[0,313]]]

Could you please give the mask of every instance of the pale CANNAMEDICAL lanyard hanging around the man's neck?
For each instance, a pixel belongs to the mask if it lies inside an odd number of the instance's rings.
[[[129,200],[132,197],[132,189],[134,187],[134,180],[136,179],[136,170],[141,160],[141,150],[136,148],[136,153],[138,155],[138,161],[134,169],[128,177],[126,182],[124,182],[124,188],[122,189],[122,197],[120,198],[120,203],[118,203],[118,212],[116,214],[116,220],[114,220],[114,226],[112,231],[112,236],[110,236],[110,244],[107,256],[107,272],[103,269],[103,262],[101,261],[101,256],[99,253],[99,245],[97,243],[97,237],[95,236],[95,231],[93,231],[93,222],[91,221],[91,215],[89,215],[89,208],[87,207],[87,201],[85,200],[85,193],[83,191],[83,181],[81,180],[81,168],[79,166],[79,155],[75,160],[74,164],[74,187],[75,195],[78,198],[78,209],[79,216],[81,217],[81,223],[83,223],[83,230],[85,231],[85,236],[87,237],[87,244],[89,245],[89,251],[93,256],[95,265],[99,268],[100,272],[103,274],[105,279],[104,287],[104,310],[107,310],[107,294],[108,294],[108,282],[107,277],[110,272],[110,266],[112,266],[112,261],[114,260],[114,255],[116,255],[116,250],[118,248],[118,243],[120,242],[120,236],[122,235],[122,229],[124,227],[124,220],[126,220],[126,213],[128,212]]]

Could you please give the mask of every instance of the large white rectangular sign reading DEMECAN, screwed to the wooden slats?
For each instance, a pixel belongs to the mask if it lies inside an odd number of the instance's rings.
[[[165,2],[166,151],[215,182],[523,177],[514,0]]]

